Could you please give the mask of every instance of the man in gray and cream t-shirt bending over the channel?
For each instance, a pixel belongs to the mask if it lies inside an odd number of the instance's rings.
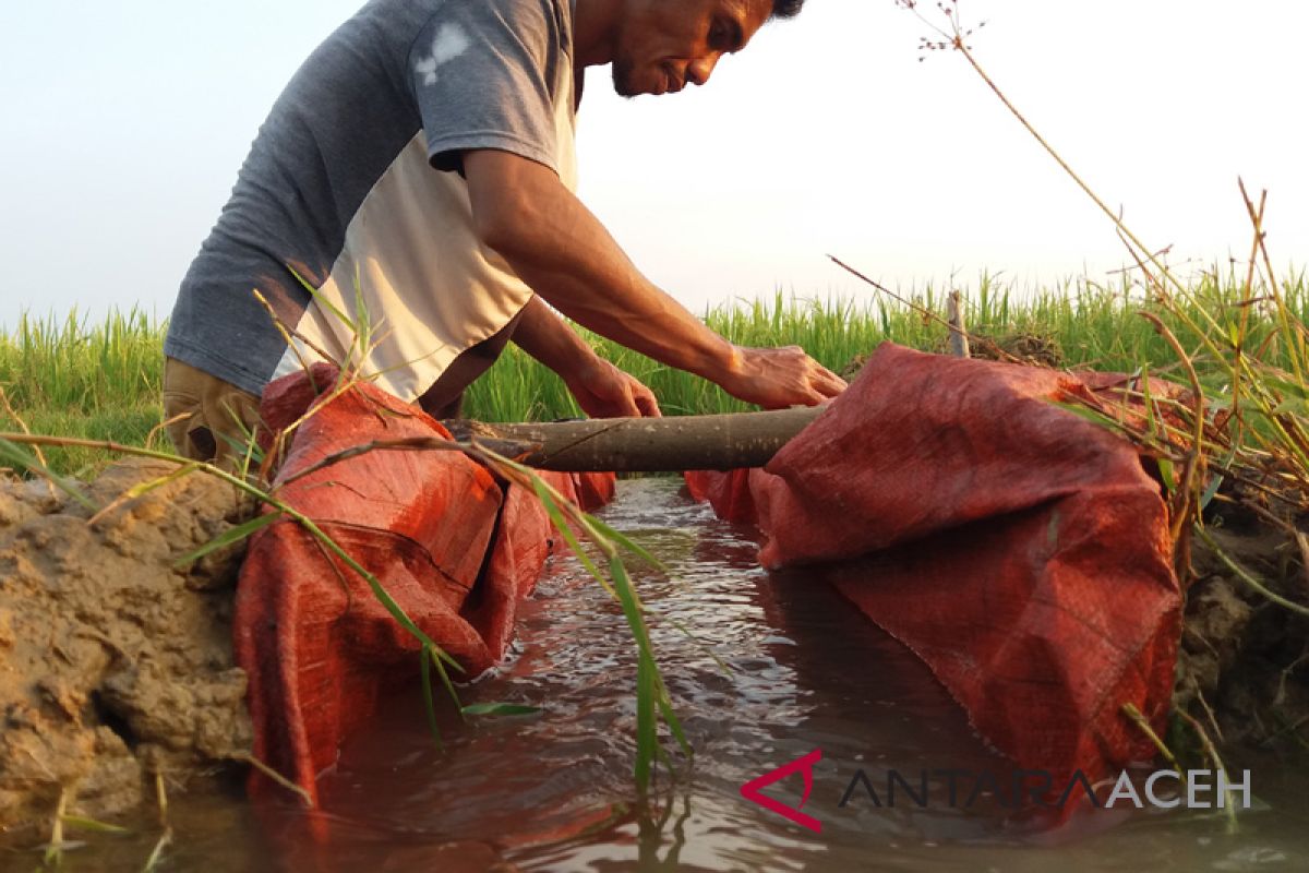
[[[802,3],[365,5],[278,99],[182,283],[164,377],[179,450],[221,459],[224,435],[257,420],[263,386],[321,357],[361,363],[440,415],[511,338],[588,415],[658,415],[649,389],[551,306],[751,403],[838,394],[844,382],[800,348],[742,348],[708,330],[573,195],[586,67],[613,64],[624,96],[703,85]]]

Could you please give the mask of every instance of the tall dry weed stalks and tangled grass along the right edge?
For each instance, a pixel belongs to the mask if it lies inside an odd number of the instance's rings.
[[[1302,572],[1309,576],[1309,547],[1295,524],[1299,516],[1309,512],[1309,418],[1306,418],[1309,356],[1305,344],[1309,330],[1304,323],[1304,313],[1293,312],[1283,296],[1272,270],[1263,229],[1267,191],[1262,191],[1255,202],[1246,190],[1244,179],[1237,179],[1253,238],[1242,297],[1234,304],[1238,312],[1233,319],[1227,312],[1228,305],[1217,298],[1217,294],[1216,300],[1206,301],[1183,285],[1160,253],[1141,242],[1123,221],[1122,215],[1109,208],[1090,185],[1009,101],[969,45],[975,29],[963,25],[959,0],[936,1],[935,8],[944,21],[941,25],[923,13],[918,0],[895,1],[898,7],[912,12],[932,31],[932,35],[920,41],[923,55],[919,59],[933,51],[953,51],[962,55],[1028,134],[1110,220],[1151,293],[1155,310],[1141,312],[1140,315],[1148,319],[1156,332],[1166,340],[1182,365],[1190,390],[1187,408],[1173,407],[1172,416],[1164,415],[1164,410],[1156,407],[1153,398],[1149,397],[1148,380],[1143,378],[1147,421],[1132,421],[1134,416],[1124,408],[1113,410],[1103,403],[1093,404],[1088,412],[1158,459],[1169,491],[1170,533],[1175,543],[1174,564],[1183,585],[1190,577],[1190,534],[1194,533],[1219,561],[1251,590],[1283,609],[1309,616],[1309,607],[1272,590],[1263,580],[1225,554],[1206,529],[1203,516],[1203,508],[1213,499],[1221,476],[1227,476],[1229,482],[1257,483],[1261,492],[1271,495],[1280,512],[1259,507],[1249,497],[1240,500],[1246,508],[1255,510],[1264,522],[1287,534],[1288,542],[1299,547]],[[1182,305],[1183,302],[1186,305]],[[1251,348],[1251,338],[1255,335],[1251,319],[1255,312],[1271,321],[1274,327]],[[1179,331],[1165,323],[1165,317],[1177,325]],[[1194,352],[1187,352],[1178,332],[1195,344]],[[1279,349],[1282,360],[1288,363],[1285,368],[1274,360]],[[1211,376],[1223,378],[1223,385],[1211,385],[1206,390],[1195,366],[1202,355]],[[1128,399],[1139,398],[1124,398],[1124,403]],[[1157,415],[1156,408],[1158,408]],[[1181,424],[1170,421],[1169,418]],[[1173,476],[1172,466],[1177,463],[1181,465],[1181,475]],[[1217,470],[1220,476],[1211,479],[1208,475],[1211,469]],[[1172,753],[1155,736],[1135,707],[1124,704],[1123,713],[1151,737],[1160,753],[1175,767]],[[1221,770],[1223,762],[1203,725],[1187,712],[1178,715],[1199,737],[1206,755]],[[1228,804],[1229,830],[1236,828],[1234,814],[1236,810]]]

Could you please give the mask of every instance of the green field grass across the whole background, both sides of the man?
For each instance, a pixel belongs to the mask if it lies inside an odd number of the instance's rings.
[[[1213,275],[1198,279],[1190,285],[1189,297],[1174,301],[1174,306],[1182,306],[1194,321],[1199,321],[1203,309],[1224,329],[1228,325],[1234,329],[1242,313],[1236,305],[1242,297],[1242,279],[1236,275],[1221,280]],[[1279,284],[1284,305],[1302,323],[1309,309],[1304,274],[1292,272]],[[1194,343],[1187,340],[1174,313],[1149,305],[1141,289],[1127,284],[1106,287],[1068,281],[1021,293],[983,276],[965,292],[970,331],[994,336],[1013,332],[1049,336],[1063,349],[1067,365],[1131,372],[1174,364],[1177,356],[1166,342],[1136,314],[1143,308],[1161,314],[1183,344]],[[931,312],[944,310],[944,294],[939,289],[928,287],[906,296]],[[1262,305],[1246,310],[1244,344],[1254,349],[1275,323]],[[872,288],[857,300],[776,293],[724,305],[704,315],[715,330],[733,342],[797,344],[835,370],[886,339],[924,349],[937,349],[945,339],[945,329],[939,322]],[[24,315],[16,329],[0,334],[0,387],[35,433],[144,445],[161,419],[162,335],[164,325],[137,309],[111,313],[94,323],[76,314],[63,319]],[[747,408],[704,380],[656,364],[600,336],[586,336],[601,355],[647,382],[668,415]],[[1221,393],[1227,370],[1208,365],[1198,343],[1194,351],[1206,387]],[[1264,357],[1288,369],[1278,342]],[[1169,376],[1182,381],[1181,373]],[[556,376],[511,347],[469,391],[466,414],[486,421],[520,421],[571,418],[579,411]],[[0,419],[7,419],[0,429],[14,429],[3,407]],[[51,450],[50,459],[64,472],[85,472],[102,461],[90,450],[58,449]]]

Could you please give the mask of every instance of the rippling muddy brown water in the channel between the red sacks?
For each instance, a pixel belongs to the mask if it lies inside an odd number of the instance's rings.
[[[639,573],[657,650],[696,754],[648,806],[631,787],[635,652],[617,606],[556,559],[522,611],[512,662],[465,703],[537,716],[442,722],[433,747],[416,695],[344,750],[325,809],[188,801],[158,869],[251,870],[1264,870],[1309,869],[1309,776],[1253,764],[1257,810],[1237,835],[1212,813],[1092,811],[1035,828],[992,796],[965,808],[933,777],[925,808],[840,796],[856,770],[1007,772],[931,674],[804,575],[770,576],[749,531],[675,482],[620,483],[605,517],[672,568]],[[720,658],[730,673],[715,661]],[[740,785],[822,749],[805,811],[822,832],[744,801]],[[795,805],[800,779],[768,791]],[[317,838],[314,836],[317,834]],[[65,869],[140,869],[153,835],[96,838]],[[3,866],[4,859],[0,859]],[[512,865],[512,866],[511,866]]]

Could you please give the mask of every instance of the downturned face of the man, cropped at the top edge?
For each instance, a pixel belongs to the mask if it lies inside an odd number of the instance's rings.
[[[723,55],[740,51],[772,0],[634,0],[614,52],[614,90],[668,94],[703,85]]]

